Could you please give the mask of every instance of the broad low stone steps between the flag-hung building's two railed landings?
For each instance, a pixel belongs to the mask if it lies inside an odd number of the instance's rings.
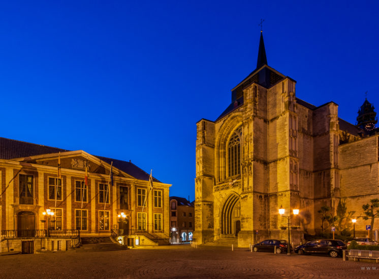
[[[82,245],[76,252],[114,251],[128,249],[126,245],[114,243],[110,237],[82,237]]]

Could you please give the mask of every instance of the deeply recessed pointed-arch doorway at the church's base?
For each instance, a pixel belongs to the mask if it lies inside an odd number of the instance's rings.
[[[221,218],[221,233],[222,234],[238,234],[236,229],[239,231],[240,228],[236,228],[236,217],[240,218],[239,213],[240,199],[237,194],[231,194],[228,200],[225,202],[222,218]],[[240,220],[239,220],[240,221]],[[239,222],[240,224],[240,222]]]

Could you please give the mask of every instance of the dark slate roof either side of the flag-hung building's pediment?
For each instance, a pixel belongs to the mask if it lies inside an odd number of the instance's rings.
[[[15,159],[43,154],[51,154],[58,152],[67,152],[70,150],[60,149],[56,147],[26,143],[21,141],[16,141],[15,139],[0,137],[0,159]],[[96,156],[96,155],[95,155]],[[121,161],[117,159],[107,158],[96,156],[99,159],[111,163],[113,161],[113,165],[115,168],[137,178],[140,180],[148,181],[150,174],[141,170],[132,162]],[[153,178],[155,182],[161,182],[155,178]]]

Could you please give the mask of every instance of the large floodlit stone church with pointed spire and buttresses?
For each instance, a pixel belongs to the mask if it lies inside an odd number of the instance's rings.
[[[290,218],[299,243],[320,232],[321,207],[335,213],[340,201],[364,233],[362,205],[379,198],[375,116],[367,100],[354,125],[334,102],[297,98],[296,81],[268,66],[261,33],[257,68],[216,120],[197,123],[194,241],[287,239]]]

